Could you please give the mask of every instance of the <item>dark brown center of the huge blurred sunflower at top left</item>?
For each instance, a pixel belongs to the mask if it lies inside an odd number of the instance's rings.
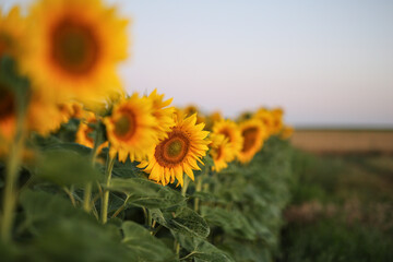
[[[51,59],[66,73],[88,73],[97,63],[99,43],[90,25],[72,17],[61,20],[51,34]]]

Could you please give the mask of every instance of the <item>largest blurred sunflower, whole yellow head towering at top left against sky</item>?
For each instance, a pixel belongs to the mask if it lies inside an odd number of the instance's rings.
[[[40,0],[27,17],[23,71],[51,98],[90,106],[122,92],[116,66],[127,57],[126,20],[99,0]]]

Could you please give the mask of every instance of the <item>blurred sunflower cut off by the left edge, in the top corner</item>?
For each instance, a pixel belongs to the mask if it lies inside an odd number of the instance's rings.
[[[25,21],[21,16],[20,8],[14,7],[5,15],[0,8],[0,58],[9,55],[13,58],[22,52],[22,40],[25,35]]]

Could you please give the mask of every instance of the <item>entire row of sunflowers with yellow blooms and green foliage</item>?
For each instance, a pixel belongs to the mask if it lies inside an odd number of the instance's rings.
[[[99,0],[0,7],[1,261],[274,260],[283,110],[228,119],[128,94],[128,26]]]

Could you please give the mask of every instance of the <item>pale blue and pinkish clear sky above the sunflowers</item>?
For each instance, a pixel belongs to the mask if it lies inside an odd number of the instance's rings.
[[[0,0],[5,9],[23,0]],[[130,17],[131,92],[296,127],[393,128],[392,0],[106,1]]]

